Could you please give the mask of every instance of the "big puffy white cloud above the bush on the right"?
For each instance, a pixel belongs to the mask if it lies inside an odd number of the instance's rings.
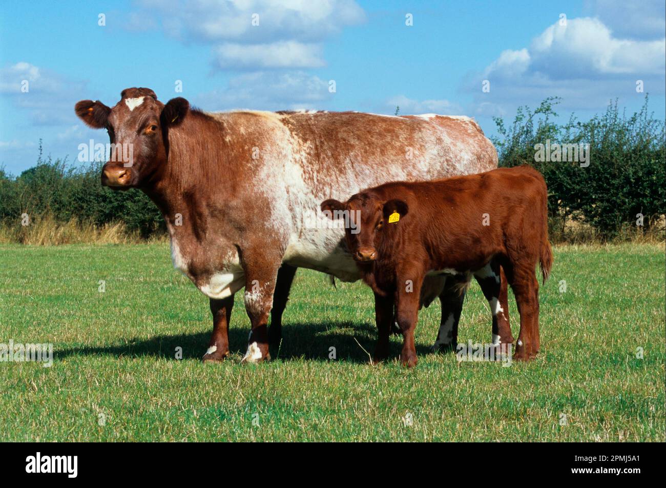
[[[611,99],[664,93],[666,38],[619,39],[597,18],[567,19],[547,27],[529,47],[502,51],[484,70],[470,73],[462,89],[474,94],[472,115],[505,115],[517,105],[534,107],[562,97],[565,110],[605,109]],[[482,81],[490,81],[490,92]]]

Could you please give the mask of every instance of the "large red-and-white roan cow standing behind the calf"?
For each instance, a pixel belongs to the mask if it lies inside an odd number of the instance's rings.
[[[205,362],[229,354],[234,294],[242,287],[252,327],[243,361],[253,363],[270,358],[269,342],[280,343],[298,267],[360,279],[344,230],[322,225],[322,199],[498,164],[494,146],[468,117],[206,113],[182,97],[162,103],[148,88],[123,90],[114,107],[79,101],[75,113],[109,133],[102,185],[148,195],[164,216],[174,267],[209,298],[213,331]],[[460,316],[460,295],[444,280],[429,279],[426,289],[424,303],[440,297],[442,321]],[[500,335],[513,341],[507,318]]]

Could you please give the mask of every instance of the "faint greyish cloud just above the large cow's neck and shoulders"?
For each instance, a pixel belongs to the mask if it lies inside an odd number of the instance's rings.
[[[321,109],[331,98],[328,83],[314,75],[262,71],[234,77],[226,89],[204,93],[194,101],[206,110],[297,110]]]

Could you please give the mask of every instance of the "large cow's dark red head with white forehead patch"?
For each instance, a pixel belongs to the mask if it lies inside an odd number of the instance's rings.
[[[184,98],[163,104],[149,88],[127,88],[109,108],[81,100],[75,111],[93,129],[107,129],[111,156],[102,168],[102,185],[115,189],[141,187],[166,164],[168,130],[182,123],[190,109]]]

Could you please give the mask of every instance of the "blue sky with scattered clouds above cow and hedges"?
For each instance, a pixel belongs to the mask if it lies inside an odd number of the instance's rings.
[[[663,0],[3,3],[0,166],[17,174],[34,165],[39,139],[45,153],[71,161],[80,143],[106,143],[74,104],[113,106],[135,86],[211,111],[400,105],[404,114],[470,115],[490,135],[493,115],[512,119],[517,106],[552,95],[563,97],[562,117],[586,119],[616,98],[633,111],[642,80],[663,119],[665,8]]]

